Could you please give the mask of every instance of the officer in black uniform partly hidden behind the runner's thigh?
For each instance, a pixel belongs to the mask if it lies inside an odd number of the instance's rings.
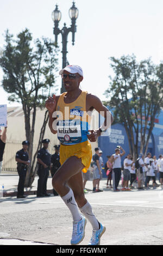
[[[52,178],[54,176],[54,174],[57,172],[58,168],[61,166],[60,161],[59,161],[59,149],[60,149],[60,145],[55,145],[55,154],[52,155],[51,157],[51,175]],[[54,190],[53,188],[53,194],[54,196],[58,196],[57,191]]]

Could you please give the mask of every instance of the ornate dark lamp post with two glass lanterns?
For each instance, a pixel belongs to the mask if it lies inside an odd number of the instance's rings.
[[[53,29],[53,34],[55,35],[55,46],[57,46],[58,43],[58,35],[61,34],[62,36],[62,69],[67,66],[67,36],[69,32],[72,32],[72,45],[74,45],[74,34],[77,31],[77,26],[76,26],[76,20],[78,17],[79,11],[75,6],[75,3],[72,3],[72,7],[69,10],[69,16],[71,18],[71,27],[67,28],[66,23],[64,23],[64,27],[60,30],[58,25],[59,21],[61,20],[61,12],[58,10],[58,5],[55,6],[55,10],[52,13],[52,19],[54,21],[54,29]],[[61,93],[65,92],[65,87],[64,83],[62,81],[62,86],[61,86]]]

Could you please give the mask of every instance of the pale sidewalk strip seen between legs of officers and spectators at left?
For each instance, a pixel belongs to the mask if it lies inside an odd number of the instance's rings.
[[[0,175],[0,185],[4,185],[3,197],[16,197],[17,196],[17,185],[18,185],[19,176],[17,174],[5,174],[1,173]],[[28,196],[31,194],[36,194],[37,192],[37,180],[39,176],[35,176],[32,187],[24,187],[24,195]],[[92,180],[86,182],[87,191],[92,192]],[[99,187],[105,190],[106,187],[106,178],[103,178],[100,181]],[[47,180],[47,193],[53,193],[52,187],[52,177],[49,176]]]

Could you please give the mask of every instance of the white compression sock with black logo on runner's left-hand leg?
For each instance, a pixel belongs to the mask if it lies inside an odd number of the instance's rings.
[[[73,221],[78,222],[82,220],[82,215],[80,215],[79,210],[78,210],[78,205],[76,200],[74,199],[74,194],[72,189],[70,188],[70,191],[64,196],[61,197],[62,200],[64,200],[65,204],[71,211]]]

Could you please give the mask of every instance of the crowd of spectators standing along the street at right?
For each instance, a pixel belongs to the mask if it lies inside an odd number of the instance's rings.
[[[137,160],[134,160],[131,154],[128,154],[121,163],[121,158],[126,152],[121,146],[117,146],[115,154],[107,156],[108,161],[104,164],[102,159],[102,150],[95,148],[95,155],[92,157],[91,169],[84,174],[84,192],[86,193],[85,184],[90,180],[90,172],[93,176],[93,192],[102,192],[99,189],[99,182],[102,179],[102,169],[105,170],[107,181],[106,188],[118,191],[131,191],[134,188],[138,190],[149,190],[150,180],[152,180],[152,187],[155,189],[160,182],[160,187],[163,189],[163,156],[159,155],[152,157],[151,153],[147,153],[144,158],[143,154],[139,154]],[[122,180],[121,190],[118,185]]]

